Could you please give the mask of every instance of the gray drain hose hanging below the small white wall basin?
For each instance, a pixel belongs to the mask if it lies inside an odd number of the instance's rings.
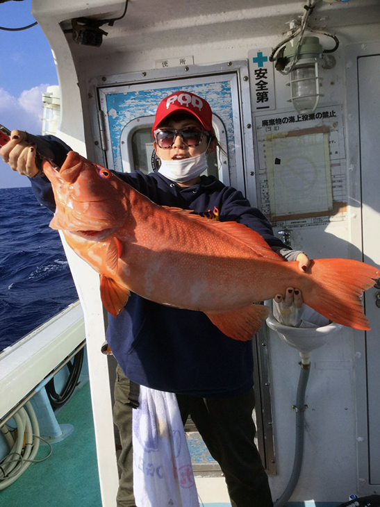
[[[310,363],[301,365],[299,381],[297,388],[297,401],[295,404],[295,460],[293,462],[292,475],[281,497],[274,502],[274,507],[283,507],[297,485],[299,474],[301,473],[302,459],[304,458],[304,419],[305,419],[305,394],[308,384],[308,375],[310,373]]]

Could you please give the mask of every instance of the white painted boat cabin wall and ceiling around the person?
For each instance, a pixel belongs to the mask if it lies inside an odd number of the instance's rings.
[[[378,188],[370,160],[379,158],[374,152],[366,151],[370,145],[379,144],[379,131],[374,124],[380,113],[379,101],[371,102],[378,97],[374,90],[380,93],[379,2],[321,1],[315,7],[313,26],[333,33],[340,44],[332,53],[335,65],[330,69],[320,66],[323,96],[314,116],[302,117],[296,113],[288,102],[288,77],[276,71],[270,84],[271,108],[260,110],[256,101],[260,90],[254,72],[259,67],[254,67],[254,58],[259,58],[260,53],[267,56],[283,40],[287,23],[301,15],[303,6],[300,1],[276,0],[233,3],[130,0],[122,22],[102,26],[108,35],[101,46],[88,47],[72,42],[71,35],[60,31],[58,23],[69,29],[73,17],[106,19],[106,16],[120,15],[124,2],[99,0],[88,8],[83,0],[60,6],[51,0],[33,1],[34,15],[47,35],[58,64],[62,137],[77,151],[104,163],[107,154],[102,150],[99,124],[94,118],[101,110],[99,90],[108,86],[128,88],[138,83],[146,86],[151,83],[154,88],[158,81],[172,83],[174,79],[181,81],[182,87],[184,78],[191,83],[191,76],[199,76],[201,69],[208,75],[218,65],[222,72],[227,72],[229,66],[239,67],[237,88],[240,92],[242,86],[247,86],[249,99],[240,102],[238,110],[244,110],[241,118],[248,121],[240,122],[245,131],[244,163],[236,169],[232,182],[270,216],[276,233],[290,230],[293,249],[302,249],[311,258],[362,260],[364,256],[367,262],[379,264],[376,242],[370,238],[370,231],[365,233],[363,228],[367,219],[374,221],[373,231],[379,230],[380,225],[379,202],[372,200],[376,197],[370,191],[371,187]],[[324,47],[333,47],[333,40],[328,37],[320,35],[320,42]],[[369,60],[373,56],[377,58]],[[363,66],[364,62],[370,63],[370,67]],[[272,72],[272,65],[265,68]],[[327,127],[327,131],[318,130],[321,127]],[[364,128],[366,140],[360,137]],[[298,137],[295,131],[299,131]],[[320,138],[316,147],[311,147],[315,135]],[[281,138],[286,138],[286,142],[280,145]],[[303,157],[304,163],[311,153],[310,170],[300,174],[299,166],[293,161],[292,170],[284,173],[284,181],[292,194],[284,191],[288,208],[281,208],[281,203],[276,203],[276,191],[281,189],[276,187],[279,180],[274,174],[276,169],[276,174],[280,170],[281,157],[290,159],[293,149],[297,149],[297,156]],[[268,153],[274,150],[279,150],[281,157],[269,160]],[[366,160],[361,158],[363,153]],[[280,159],[279,164],[276,158]],[[248,160],[253,164],[249,170]],[[320,174],[326,176],[325,181],[320,179]],[[363,180],[367,183],[361,201]],[[299,196],[306,192],[310,192],[309,200],[315,203],[313,210],[299,203]],[[322,192],[323,199],[318,192]],[[367,234],[364,243],[363,231]],[[375,307],[374,294],[366,300],[367,309]],[[374,383],[380,380],[379,373],[365,359],[368,351],[373,358],[380,357],[376,345],[380,322],[374,310],[371,319],[372,334],[344,328],[312,353],[306,395],[304,465],[293,500],[346,501],[350,493],[380,492],[379,471],[370,469],[370,461],[380,463],[380,445],[375,445],[374,431],[367,430],[372,421],[374,427],[378,416],[376,406],[380,406],[374,389]],[[368,349],[372,344],[373,348]],[[276,498],[285,488],[292,467],[295,435],[292,405],[299,376],[299,355],[281,342],[274,331],[267,330],[267,347],[270,424],[274,428],[276,464],[276,475],[270,476],[270,481]],[[368,381],[366,372],[370,372],[374,383]],[[367,392],[370,393],[368,403]]]

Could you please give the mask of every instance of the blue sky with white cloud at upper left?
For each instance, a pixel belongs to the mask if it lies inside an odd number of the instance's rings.
[[[0,3],[0,26],[18,28],[35,22],[31,0]],[[42,128],[42,93],[58,85],[56,67],[40,26],[24,31],[0,30],[0,124],[33,134]],[[0,159],[0,188],[28,186]]]

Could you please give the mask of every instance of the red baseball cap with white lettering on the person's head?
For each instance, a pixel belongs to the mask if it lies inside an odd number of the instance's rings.
[[[199,119],[199,122],[201,122],[206,131],[213,135],[215,134],[213,129],[213,112],[211,111],[210,104],[201,97],[198,97],[198,95],[184,92],[183,90],[172,93],[160,101],[156,117],[154,118],[154,126],[151,129],[152,134],[167,116],[179,111],[194,115]]]

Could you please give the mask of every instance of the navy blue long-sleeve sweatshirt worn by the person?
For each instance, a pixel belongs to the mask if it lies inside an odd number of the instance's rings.
[[[69,147],[51,136],[44,140],[49,141],[57,165],[62,165]],[[271,247],[285,247],[260,210],[213,176],[201,176],[200,183],[190,188],[179,187],[158,172],[118,176],[157,204],[206,216],[216,213],[222,222],[241,222],[260,233]],[[31,184],[38,201],[54,210],[47,178],[31,178]],[[106,335],[124,374],[149,388],[232,397],[247,392],[254,382],[251,342],[227,337],[202,312],[163,306],[131,293],[117,317],[108,315]]]

